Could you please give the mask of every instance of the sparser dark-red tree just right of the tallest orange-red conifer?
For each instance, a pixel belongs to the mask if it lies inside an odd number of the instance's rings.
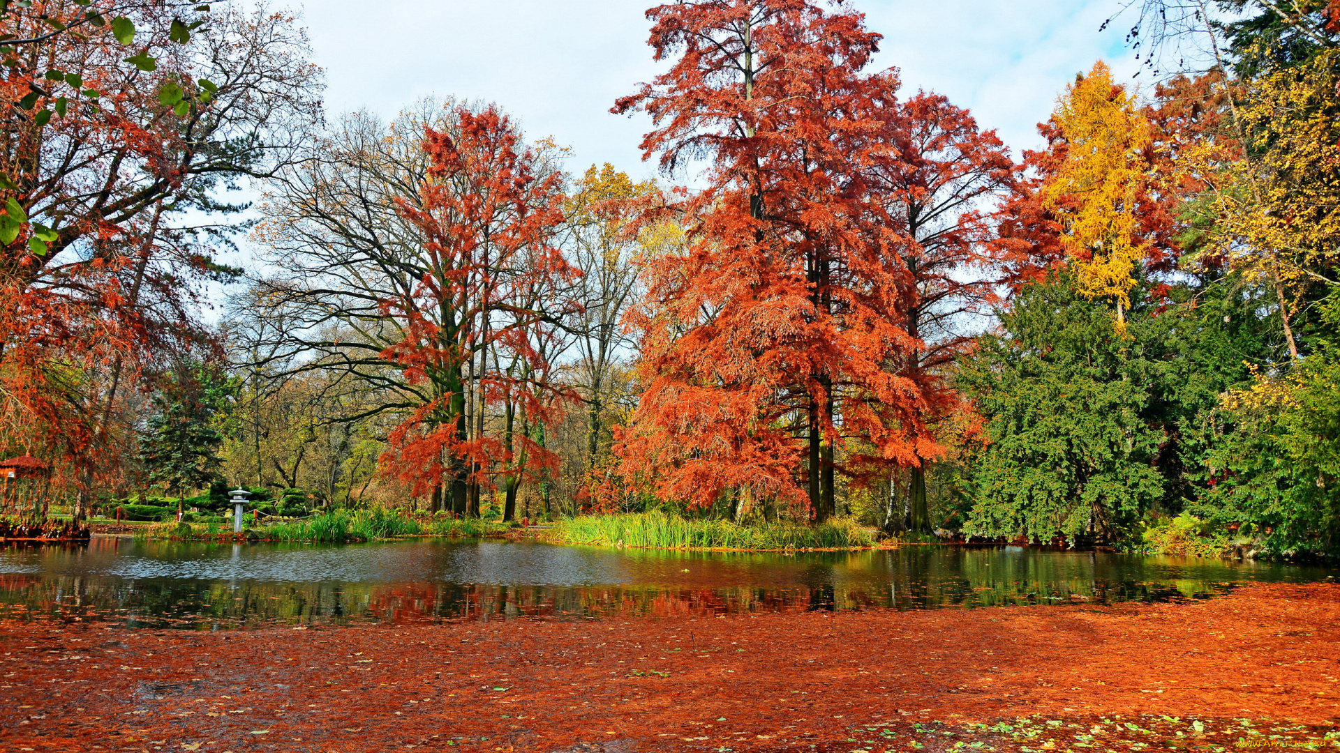
[[[896,79],[886,78],[896,86]],[[871,170],[880,221],[896,233],[886,263],[911,283],[903,328],[915,343],[898,358],[899,375],[921,389],[925,418],[942,431],[961,433],[970,409],[949,378],[954,360],[973,343],[998,300],[1009,268],[997,255],[990,204],[1013,181],[1014,163],[994,133],[981,133],[972,115],[938,94],[918,92],[887,109],[880,138],[890,145]],[[891,222],[891,224],[890,224]],[[852,465],[882,458],[854,457]],[[891,485],[884,528],[930,533],[926,465],[907,466],[906,505]],[[887,472],[886,472],[887,473]]]

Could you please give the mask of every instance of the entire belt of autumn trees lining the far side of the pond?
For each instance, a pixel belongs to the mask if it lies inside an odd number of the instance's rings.
[[[635,181],[486,102],[327,119],[281,12],[5,3],[0,446],[76,517],[245,485],[1335,553],[1340,3],[1112,13],[1159,83],[1057,82],[1014,159],[850,3],[653,8]]]

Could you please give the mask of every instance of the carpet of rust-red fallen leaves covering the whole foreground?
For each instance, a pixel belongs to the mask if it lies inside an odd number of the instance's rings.
[[[716,619],[217,632],[5,620],[0,646],[7,750],[1124,752],[1340,737],[1333,584]]]

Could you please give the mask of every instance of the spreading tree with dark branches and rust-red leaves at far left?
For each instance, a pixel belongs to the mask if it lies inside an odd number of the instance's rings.
[[[217,189],[283,162],[320,119],[292,19],[192,8],[0,16],[0,431],[62,458],[76,516],[131,448],[127,395],[208,340],[194,296],[230,272],[209,243],[225,228],[197,222],[239,209]]]

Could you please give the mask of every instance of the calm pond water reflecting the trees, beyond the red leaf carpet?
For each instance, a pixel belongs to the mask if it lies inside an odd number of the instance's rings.
[[[903,547],[725,553],[539,543],[346,545],[94,537],[0,549],[0,616],[224,628],[540,616],[990,607],[1209,598],[1250,581],[1315,581],[1282,563]]]

